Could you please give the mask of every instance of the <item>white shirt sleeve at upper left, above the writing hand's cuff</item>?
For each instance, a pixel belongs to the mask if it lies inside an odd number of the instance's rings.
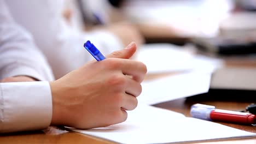
[[[42,52],[0,1],[0,79],[27,75],[38,80],[53,80],[53,73]]]

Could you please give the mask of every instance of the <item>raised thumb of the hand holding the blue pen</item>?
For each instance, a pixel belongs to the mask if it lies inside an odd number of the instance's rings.
[[[137,50],[137,45],[135,42],[132,42],[125,49],[119,50],[119,51],[114,51],[114,52],[110,53],[109,55],[107,55],[106,58],[129,59],[130,57],[132,57],[132,55],[135,53],[136,50]]]

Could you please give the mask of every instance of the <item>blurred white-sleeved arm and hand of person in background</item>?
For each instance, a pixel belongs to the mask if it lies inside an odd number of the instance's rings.
[[[117,35],[124,45],[130,44],[131,41],[135,41],[138,46],[144,43],[136,25],[107,0],[66,1],[66,7],[69,14],[66,13],[65,16],[72,25],[85,28],[86,31],[107,29]]]

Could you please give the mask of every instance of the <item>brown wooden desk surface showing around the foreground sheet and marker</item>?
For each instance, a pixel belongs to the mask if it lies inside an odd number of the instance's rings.
[[[214,105],[218,109],[234,110],[240,111],[245,109],[245,107],[251,102],[228,102],[228,101],[196,101],[196,100],[186,100],[177,99],[173,101],[168,101],[166,103],[157,104],[154,106],[161,107],[164,109],[176,111],[183,113],[185,116],[189,116],[190,106],[195,103]],[[254,101],[255,102],[255,101]],[[256,127],[228,124],[233,128],[241,129],[256,133]],[[20,132],[14,134],[4,134],[0,136],[0,143],[93,143],[93,144],[103,144],[103,143],[114,143],[111,141],[99,139],[89,135],[83,135],[75,133],[73,131],[69,132],[64,129],[49,127],[43,131],[29,131]],[[213,142],[200,142],[211,144]],[[256,143],[256,138],[251,139],[238,139],[238,140],[225,140],[225,141],[214,141],[214,143]]]

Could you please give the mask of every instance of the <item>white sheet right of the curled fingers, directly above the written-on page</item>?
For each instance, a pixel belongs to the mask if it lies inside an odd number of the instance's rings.
[[[142,82],[139,103],[153,105],[208,92],[211,74],[187,73]]]

